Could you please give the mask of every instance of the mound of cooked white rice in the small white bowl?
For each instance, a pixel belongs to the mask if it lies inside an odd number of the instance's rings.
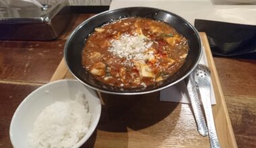
[[[91,116],[88,101],[81,91],[75,100],[55,102],[36,118],[28,135],[28,145],[38,148],[72,147],[86,135]]]

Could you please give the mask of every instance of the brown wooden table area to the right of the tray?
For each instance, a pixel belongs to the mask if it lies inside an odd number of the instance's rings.
[[[215,57],[238,147],[256,147],[256,60]]]

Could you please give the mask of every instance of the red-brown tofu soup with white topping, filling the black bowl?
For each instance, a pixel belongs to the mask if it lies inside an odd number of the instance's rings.
[[[95,28],[82,51],[82,65],[108,85],[146,87],[177,72],[188,50],[187,39],[172,26],[129,17]]]

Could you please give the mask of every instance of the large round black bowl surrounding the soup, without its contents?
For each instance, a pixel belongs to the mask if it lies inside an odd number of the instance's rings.
[[[174,75],[168,77],[168,79],[162,81],[162,83],[156,83],[156,85],[150,85],[143,88],[113,87],[98,81],[89,71],[84,69],[81,61],[82,50],[86,38],[88,38],[90,33],[94,32],[94,28],[125,17],[147,17],[152,20],[160,20],[170,24],[177,30],[177,32],[185,36],[189,42],[189,53],[181,69],[179,69],[177,73],[174,73]],[[92,89],[108,94],[137,95],[159,91],[185,79],[185,77],[187,77],[199,63],[201,51],[201,41],[197,30],[179,15],[150,7],[127,7],[104,11],[103,13],[90,17],[88,20],[77,26],[65,44],[65,62],[73,76]]]

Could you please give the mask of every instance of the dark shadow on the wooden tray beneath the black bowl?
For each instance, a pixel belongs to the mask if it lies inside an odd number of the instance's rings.
[[[157,124],[171,114],[179,104],[160,101],[159,91],[139,96],[102,94],[102,100],[105,105],[102,105],[98,129],[113,133],[127,133],[127,128],[138,131]],[[176,124],[177,120],[171,122]],[[168,127],[168,131],[171,133],[173,128]],[[160,130],[163,130],[162,127]]]

